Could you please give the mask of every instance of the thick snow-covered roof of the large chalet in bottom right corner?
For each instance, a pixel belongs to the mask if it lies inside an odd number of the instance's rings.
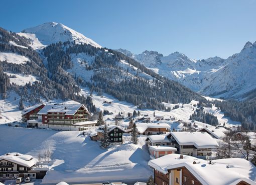
[[[165,174],[168,169],[186,167],[202,184],[237,184],[242,180],[256,184],[256,167],[242,158],[216,159],[209,164],[193,156],[180,158],[180,154],[172,153],[150,160],[148,164]]]

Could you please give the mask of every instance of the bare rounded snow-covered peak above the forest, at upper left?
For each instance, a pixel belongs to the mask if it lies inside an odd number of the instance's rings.
[[[33,43],[37,45],[40,45],[40,43],[43,45],[49,45],[59,41],[75,41],[76,43],[87,43],[95,47],[101,47],[92,39],[85,37],[83,34],[61,23],[56,22],[47,22],[36,27],[27,28],[19,34],[31,38]],[[40,41],[40,43],[37,39]]]

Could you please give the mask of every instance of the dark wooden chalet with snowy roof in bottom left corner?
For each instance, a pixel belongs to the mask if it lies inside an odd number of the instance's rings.
[[[43,178],[48,167],[37,167],[32,155],[6,153],[0,156],[0,180],[14,177]]]

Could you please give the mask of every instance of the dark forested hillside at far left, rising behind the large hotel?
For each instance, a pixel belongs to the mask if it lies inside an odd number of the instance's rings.
[[[84,96],[76,95],[80,91],[80,87],[75,83],[72,76],[69,76],[61,67],[49,75],[49,71],[44,66],[42,58],[28,44],[30,40],[19,36],[16,33],[9,32],[0,28],[0,53],[13,53],[19,56],[29,58],[26,63],[15,63],[12,60],[0,61],[0,89],[2,97],[5,98],[7,90],[15,90],[23,100],[38,103],[41,98],[51,100],[54,98],[73,99],[81,103],[87,104],[90,111],[95,112],[96,108],[92,105],[92,101]],[[12,42],[10,42],[12,41]],[[11,73],[7,75],[5,72]],[[16,77],[15,74],[33,75],[38,80],[26,85],[10,83],[10,78]],[[67,78],[66,83],[63,78]],[[69,84],[69,85],[67,85]]]

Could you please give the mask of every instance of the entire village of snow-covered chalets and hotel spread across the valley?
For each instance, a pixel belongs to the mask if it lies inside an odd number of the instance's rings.
[[[172,116],[156,115],[155,112],[149,116],[140,111],[127,115],[119,112],[114,116],[113,124],[109,124],[103,120],[103,115],[110,112],[100,112],[97,120],[88,120],[88,109],[75,101],[41,103],[27,107],[21,113],[26,127],[80,130],[81,134],[88,135],[103,148],[122,144],[123,134],[130,134],[135,144],[139,135],[147,135],[145,144],[151,158],[148,165],[154,171],[147,184],[256,184],[256,174],[248,175],[256,171],[253,161],[249,161],[250,150],[254,147],[251,143],[255,139],[254,132],[220,125],[199,127],[195,120],[186,122]],[[129,125],[121,125],[120,120],[126,120]],[[184,126],[177,130],[171,128],[168,121],[183,123]],[[242,158],[232,158],[231,147],[237,147],[237,150],[242,147]],[[0,179],[40,179],[49,166],[42,166],[32,155],[14,151],[0,156],[0,169]]]

